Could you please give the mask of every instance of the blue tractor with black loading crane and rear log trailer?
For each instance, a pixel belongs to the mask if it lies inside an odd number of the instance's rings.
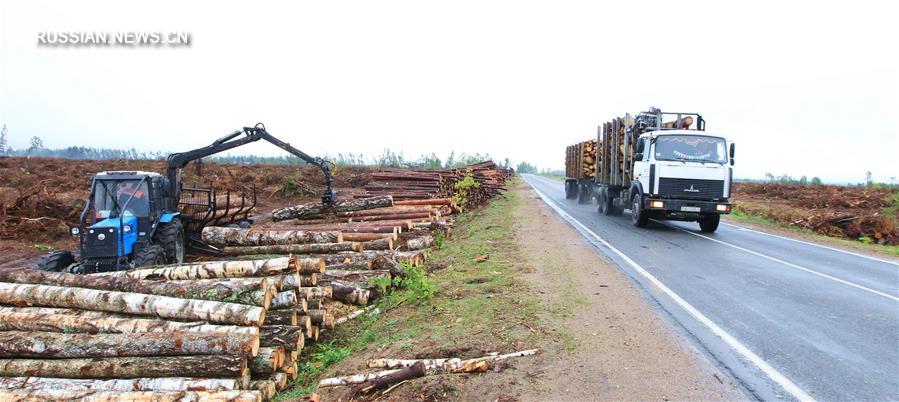
[[[71,228],[80,240],[80,258],[67,250],[53,251],[41,257],[38,269],[94,273],[181,263],[188,249],[221,255],[218,249],[203,243],[203,227],[236,221],[248,225],[255,192],[251,201],[241,196],[239,204],[232,203],[230,193],[217,197],[212,189],[184,188],[181,172],[192,161],[259,140],[271,142],[321,168],[325,177],[322,203],[326,207],[333,205],[330,163],[278,140],[260,123],[206,147],[169,155],[166,175],[140,171],[98,173],[91,180],[91,192],[79,224]]]

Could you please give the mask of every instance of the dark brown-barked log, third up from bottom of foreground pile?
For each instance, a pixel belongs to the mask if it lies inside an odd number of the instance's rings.
[[[0,359],[0,377],[141,378],[242,377],[247,360],[235,355]]]

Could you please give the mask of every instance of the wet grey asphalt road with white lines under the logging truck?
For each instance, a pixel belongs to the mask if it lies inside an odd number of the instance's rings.
[[[723,223],[637,228],[525,179],[751,396],[899,399],[899,264]]]

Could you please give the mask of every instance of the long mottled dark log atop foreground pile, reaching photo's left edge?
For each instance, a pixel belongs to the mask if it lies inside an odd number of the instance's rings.
[[[127,293],[144,293],[180,299],[199,299],[265,306],[271,297],[263,289],[265,283],[249,286],[241,282],[155,282],[114,276],[75,275],[34,269],[0,271],[0,282],[53,285]]]

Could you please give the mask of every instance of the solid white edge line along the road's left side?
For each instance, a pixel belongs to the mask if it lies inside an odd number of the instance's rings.
[[[531,184],[529,180],[525,179],[525,181],[527,181],[528,184]],[[630,265],[631,268],[634,269],[634,271],[636,271],[637,273],[642,275],[644,278],[649,280],[660,291],[665,293],[675,303],[677,303],[677,305],[679,305],[687,313],[689,313],[691,316],[693,316],[693,318],[695,318],[697,321],[699,321],[700,323],[705,325],[710,331],[712,331],[713,334],[715,334],[716,336],[721,338],[721,340],[724,341],[728,346],[733,348],[737,353],[739,353],[741,356],[743,356],[746,360],[748,360],[749,362],[754,364],[756,367],[758,367],[758,369],[761,370],[763,373],[765,373],[765,375],[768,376],[768,378],[770,378],[771,381],[774,381],[775,383],[780,385],[781,388],[783,388],[785,391],[787,391],[788,393],[793,395],[794,398],[796,398],[800,401],[814,401],[815,400],[814,398],[812,398],[811,395],[809,395],[807,392],[803,391],[802,388],[799,388],[798,385],[793,383],[793,381],[790,381],[789,378],[787,378],[786,376],[781,374],[780,371],[777,371],[777,369],[775,369],[770,364],[768,364],[768,362],[766,362],[764,359],[762,359],[759,355],[757,355],[753,351],[749,350],[749,348],[746,347],[746,345],[743,345],[742,342],[738,341],[737,338],[734,338],[731,334],[729,334],[723,328],[718,326],[718,324],[715,324],[711,319],[706,317],[705,314],[702,314],[701,312],[699,312],[699,310],[697,310],[695,307],[693,307],[693,305],[691,305],[690,303],[687,303],[687,301],[684,300],[683,298],[681,298],[677,293],[674,293],[673,290],[671,290],[667,286],[665,286],[665,284],[663,284],[662,281],[660,281],[658,278],[656,278],[655,276],[650,274],[648,271],[643,269],[643,267],[641,267],[639,264],[637,264],[634,260],[630,259],[630,257],[624,255],[624,253],[622,253],[620,250],[618,250],[617,248],[615,248],[614,246],[609,244],[609,242],[605,241],[605,239],[603,239],[602,237],[599,237],[599,235],[597,235],[592,230],[590,230],[589,228],[584,226],[583,223],[579,222],[577,219],[574,219],[574,217],[572,217],[571,215],[568,215],[568,213],[563,211],[562,208],[560,208],[558,205],[556,205],[555,202],[550,200],[549,197],[544,195],[533,184],[531,184],[531,188],[534,190],[534,192],[537,193],[537,195],[540,196],[540,198],[543,199],[543,202],[545,202],[546,205],[548,205],[550,208],[552,208],[554,211],[556,211],[556,213],[559,214],[559,216],[562,217],[562,219],[566,220],[568,223],[570,223],[572,226],[574,226],[574,228],[578,232],[581,232],[581,234],[583,234],[584,236],[589,236],[589,237],[596,239],[597,241],[602,243],[603,246],[607,247],[609,250],[611,250],[616,255],[621,257],[621,259],[623,259],[628,265]]]

